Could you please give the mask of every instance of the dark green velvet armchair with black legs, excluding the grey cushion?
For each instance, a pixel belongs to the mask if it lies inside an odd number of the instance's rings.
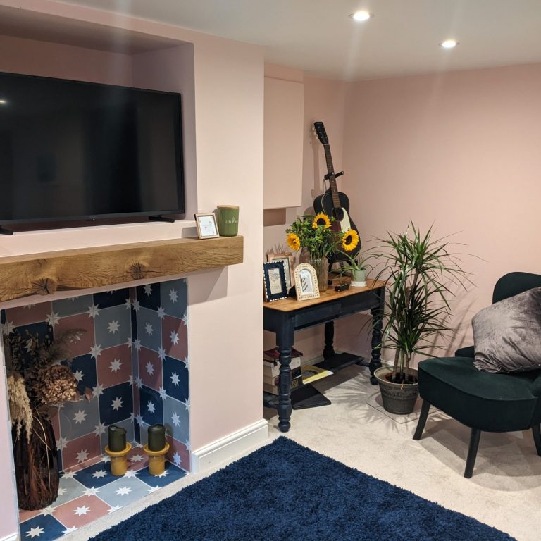
[[[509,273],[498,280],[492,302],[541,287],[541,275]],[[413,435],[420,440],[430,405],[471,428],[464,477],[471,478],[480,435],[487,432],[529,430],[541,456],[541,370],[490,373],[473,366],[473,346],[454,357],[426,359],[418,366],[421,416]]]

